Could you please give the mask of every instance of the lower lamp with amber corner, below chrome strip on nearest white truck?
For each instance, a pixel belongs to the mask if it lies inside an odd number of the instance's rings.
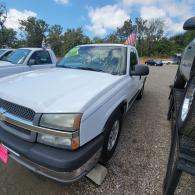
[[[58,137],[48,134],[38,134],[37,141],[58,148],[75,150],[80,146],[78,132],[72,134],[72,137]]]

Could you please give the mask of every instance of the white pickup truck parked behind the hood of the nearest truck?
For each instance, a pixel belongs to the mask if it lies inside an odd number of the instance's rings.
[[[0,77],[54,67],[56,56],[51,49],[20,48],[0,60]]]

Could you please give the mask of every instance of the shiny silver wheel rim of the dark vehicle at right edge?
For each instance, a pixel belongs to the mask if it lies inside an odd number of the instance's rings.
[[[194,99],[194,93],[195,93],[195,78],[191,81],[187,91],[186,95],[183,101],[182,109],[181,109],[181,120],[185,121],[188,112],[190,110],[190,107],[192,105],[192,101]]]

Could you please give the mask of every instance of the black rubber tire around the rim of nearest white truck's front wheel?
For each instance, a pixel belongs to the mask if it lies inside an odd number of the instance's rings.
[[[112,128],[113,128],[116,121],[119,122],[119,131],[118,131],[117,138],[116,138],[116,141],[115,141],[113,147],[109,150],[108,149],[109,148],[109,140],[110,140]],[[110,158],[113,156],[114,151],[115,151],[116,146],[117,146],[117,143],[118,143],[119,136],[120,136],[121,127],[122,127],[122,113],[120,110],[118,110],[111,115],[111,117],[108,119],[108,121],[105,125],[104,144],[103,144],[102,154],[101,154],[101,158],[100,158],[101,163],[103,163],[103,164],[107,163],[110,160]]]

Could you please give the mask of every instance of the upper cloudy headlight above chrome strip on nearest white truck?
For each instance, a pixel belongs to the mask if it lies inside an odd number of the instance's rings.
[[[80,129],[81,114],[43,114],[40,126],[62,130],[75,131]]]

